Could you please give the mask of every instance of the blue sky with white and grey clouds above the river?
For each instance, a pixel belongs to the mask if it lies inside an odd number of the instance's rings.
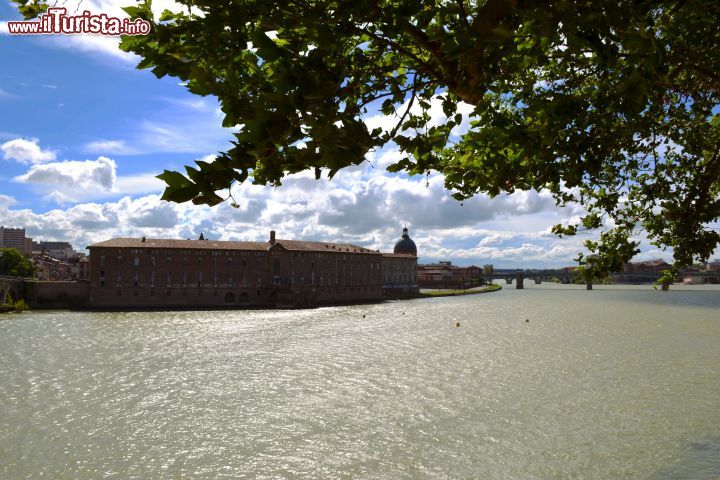
[[[72,1],[68,2],[72,3]],[[84,0],[93,13],[119,15],[127,2]],[[171,7],[156,1],[158,10]],[[71,8],[71,7],[69,7]],[[0,0],[0,20],[18,19]],[[10,36],[0,24],[0,225],[25,227],[37,240],[66,240],[83,250],[120,236],[349,241],[392,249],[407,224],[421,261],[496,267],[573,264],[583,237],[558,239],[549,228],[582,214],[559,209],[547,193],[519,192],[460,205],[429,178],[390,175],[391,148],[332,181],[310,174],[273,189],[234,191],[239,208],[170,204],[159,199],[164,169],[178,170],[224,150],[216,99],[188,93],[174,78],[134,68],[117,39],[91,35]],[[435,121],[442,121],[438,108]],[[367,119],[370,126],[388,119]],[[390,119],[392,121],[392,119]],[[665,258],[644,243],[640,259]]]

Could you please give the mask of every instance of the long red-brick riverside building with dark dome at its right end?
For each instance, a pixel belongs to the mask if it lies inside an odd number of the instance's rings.
[[[357,245],[115,238],[90,245],[91,308],[312,306],[417,293],[417,251]],[[403,243],[404,242],[404,243]],[[412,240],[410,240],[412,243]],[[415,244],[412,243],[412,247]]]

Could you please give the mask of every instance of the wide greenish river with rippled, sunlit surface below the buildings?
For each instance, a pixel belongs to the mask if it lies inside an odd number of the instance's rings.
[[[504,287],[5,315],[0,478],[720,477],[720,289]]]

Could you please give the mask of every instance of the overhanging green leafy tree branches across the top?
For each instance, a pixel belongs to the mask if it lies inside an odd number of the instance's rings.
[[[15,0],[26,15],[36,4]],[[364,161],[445,175],[457,199],[547,189],[600,229],[580,263],[615,270],[639,231],[676,266],[720,235],[720,2],[699,0],[180,0],[121,48],[158,77],[214,95],[241,125],[214,162],[166,171],[164,198],[214,205],[234,182],[279,185]],[[446,120],[430,122],[440,102]],[[469,131],[454,136],[462,103]],[[379,110],[395,121],[370,131]]]

